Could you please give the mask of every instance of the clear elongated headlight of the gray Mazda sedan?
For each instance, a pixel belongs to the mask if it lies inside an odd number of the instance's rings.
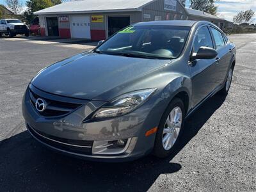
[[[116,99],[108,102],[93,115],[93,119],[111,118],[115,116],[125,115],[132,110],[138,108],[143,102],[145,102],[152,93],[156,91],[156,88],[150,88],[146,90],[138,90],[135,92],[125,93],[117,97]]]

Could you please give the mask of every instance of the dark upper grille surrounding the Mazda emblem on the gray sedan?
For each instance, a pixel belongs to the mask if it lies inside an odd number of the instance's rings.
[[[47,102],[47,106],[43,112],[39,112],[43,116],[60,116],[66,115],[70,113],[74,109],[79,108],[82,104],[77,103],[69,103],[69,102],[60,102],[58,100],[45,99],[44,97],[40,97],[36,95],[36,93],[29,90],[30,101],[35,107],[36,99],[44,99]]]

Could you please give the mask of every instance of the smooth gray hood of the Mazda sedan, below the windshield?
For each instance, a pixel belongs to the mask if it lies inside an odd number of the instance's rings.
[[[31,83],[40,90],[56,95],[94,99],[167,63],[170,60],[86,52],[44,68]]]

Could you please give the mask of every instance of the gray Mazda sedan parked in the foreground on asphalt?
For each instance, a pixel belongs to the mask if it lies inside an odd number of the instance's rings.
[[[42,69],[22,112],[31,135],[64,154],[167,157],[186,117],[215,93],[228,93],[235,63],[235,45],[211,22],[140,22]]]

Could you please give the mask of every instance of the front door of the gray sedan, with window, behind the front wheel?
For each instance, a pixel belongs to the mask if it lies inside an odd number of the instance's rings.
[[[214,48],[211,33],[206,25],[198,29],[193,42],[193,50],[191,55],[193,52],[198,52],[198,49],[203,46]],[[201,59],[189,62],[193,84],[193,107],[200,103],[216,88],[216,86],[218,86],[216,65],[216,58],[211,60]]]

